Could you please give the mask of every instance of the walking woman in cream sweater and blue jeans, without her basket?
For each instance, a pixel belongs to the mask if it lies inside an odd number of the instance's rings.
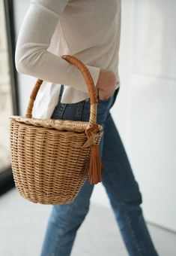
[[[140,206],[142,194],[109,112],[120,86],[120,32],[120,0],[31,0],[16,44],[16,69],[43,80],[35,117],[88,121],[88,88],[79,70],[61,55],[74,55],[88,67],[99,97],[97,123],[104,128],[102,183],[128,253],[156,256]],[[93,188],[86,180],[73,203],[53,206],[42,256],[70,255]]]

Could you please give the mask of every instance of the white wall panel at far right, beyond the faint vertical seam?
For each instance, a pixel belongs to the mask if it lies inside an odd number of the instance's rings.
[[[127,148],[146,218],[176,230],[176,2],[133,0]]]

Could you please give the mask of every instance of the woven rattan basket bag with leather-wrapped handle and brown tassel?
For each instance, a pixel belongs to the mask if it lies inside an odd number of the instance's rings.
[[[90,117],[88,122],[33,118],[34,100],[43,82],[40,79],[31,92],[25,117],[10,117],[13,179],[22,197],[33,203],[70,203],[88,176],[91,184],[101,181],[103,127],[97,124],[94,81],[75,56],[61,57],[82,72],[90,95]]]

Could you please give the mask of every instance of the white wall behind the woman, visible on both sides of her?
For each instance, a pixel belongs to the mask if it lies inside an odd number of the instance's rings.
[[[15,2],[16,33],[28,2]],[[122,0],[121,91],[112,114],[148,221],[176,230],[175,0]],[[36,78],[19,75],[23,114]],[[91,201],[109,206],[101,184]]]

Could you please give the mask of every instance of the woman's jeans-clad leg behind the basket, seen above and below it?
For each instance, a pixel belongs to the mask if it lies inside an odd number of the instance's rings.
[[[81,120],[84,104],[84,101],[69,105],[58,102],[52,118]],[[41,256],[70,255],[76,237],[76,231],[88,213],[93,188],[94,185],[90,184],[87,179],[72,203],[52,207],[46,227]]]

